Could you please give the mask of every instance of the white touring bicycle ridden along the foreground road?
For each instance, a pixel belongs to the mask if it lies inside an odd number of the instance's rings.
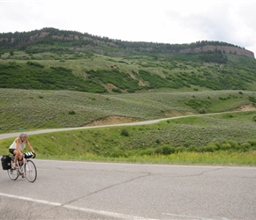
[[[37,170],[34,162],[29,158],[35,158],[35,154],[32,152],[23,153],[23,164],[20,165],[17,160],[17,169],[13,169],[14,155],[11,157],[11,168],[7,170],[8,175],[11,180],[17,180],[19,176],[23,178],[26,177],[26,180],[34,182],[37,177]]]

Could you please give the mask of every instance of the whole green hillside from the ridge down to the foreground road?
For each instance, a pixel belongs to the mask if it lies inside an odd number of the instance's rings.
[[[200,114],[31,136],[39,158],[255,165],[256,60],[180,53],[236,46],[127,42],[52,28],[0,39],[0,133]],[[254,111],[234,112],[245,106]],[[10,142],[0,141],[0,153]]]

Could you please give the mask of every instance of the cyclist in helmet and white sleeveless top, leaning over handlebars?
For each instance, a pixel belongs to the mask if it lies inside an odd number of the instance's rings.
[[[17,169],[17,160],[19,158],[19,163],[23,164],[23,153],[22,150],[25,149],[26,144],[29,147],[29,149],[35,154],[33,147],[28,141],[28,135],[26,133],[21,133],[19,137],[17,137],[13,143],[11,143],[11,146],[9,148],[9,152],[13,154],[14,157],[14,163],[13,163],[13,169]]]

